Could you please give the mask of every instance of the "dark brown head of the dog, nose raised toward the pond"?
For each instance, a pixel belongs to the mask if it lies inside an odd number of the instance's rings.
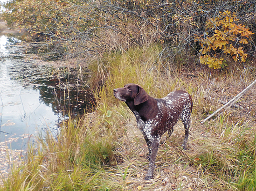
[[[124,87],[114,89],[114,96],[121,101],[133,101],[135,106],[148,100],[146,91],[137,84],[126,84]]]

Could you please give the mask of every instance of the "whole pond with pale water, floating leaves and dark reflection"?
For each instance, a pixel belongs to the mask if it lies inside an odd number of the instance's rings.
[[[76,69],[27,59],[17,42],[0,36],[0,146],[24,150],[38,132],[58,134],[63,120],[92,108],[94,99]]]

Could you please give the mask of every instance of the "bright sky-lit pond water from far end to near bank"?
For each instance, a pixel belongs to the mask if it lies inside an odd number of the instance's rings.
[[[23,82],[23,76],[16,75],[17,69],[25,66],[30,69],[33,63],[8,56],[17,51],[6,48],[11,43],[13,38],[0,36],[0,142],[9,141],[12,149],[22,149],[27,137],[38,130],[57,129],[61,117],[40,99],[39,89]]]

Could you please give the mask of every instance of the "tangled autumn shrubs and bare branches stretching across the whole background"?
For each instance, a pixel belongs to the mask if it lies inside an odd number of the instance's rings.
[[[159,57],[162,64],[171,66],[195,64],[199,50],[202,49],[202,54],[207,52],[204,50],[209,47],[207,43],[216,50],[212,50],[211,54],[203,54],[201,62],[211,62],[210,65],[215,63],[215,68],[226,63],[220,60],[222,58],[217,50],[236,56],[235,60],[244,61],[246,54],[247,57],[255,57],[255,36],[251,33],[243,36],[240,33],[256,31],[254,0],[242,0],[239,3],[233,0],[19,0],[7,8],[9,10],[3,14],[3,18],[8,24],[29,32],[28,41],[45,42],[38,47],[38,53],[52,58],[102,56],[106,52],[126,51],[134,46],[153,43],[163,46]],[[230,15],[224,15],[224,12],[230,12]],[[226,17],[229,19],[222,21]],[[222,34],[229,28],[235,31]],[[238,41],[233,39],[236,33],[239,33]],[[195,41],[195,36],[199,35],[202,47]],[[217,43],[220,35],[223,35],[224,39],[220,40],[225,41],[226,48],[225,45],[218,47],[221,46]],[[227,47],[230,42],[232,47]]]

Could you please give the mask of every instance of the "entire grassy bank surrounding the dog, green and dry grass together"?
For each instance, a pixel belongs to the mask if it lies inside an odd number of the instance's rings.
[[[94,61],[89,68],[95,111],[66,121],[57,139],[51,133],[38,136],[1,190],[255,190],[256,89],[239,101],[244,111],[230,108],[200,124],[220,107],[218,99],[232,98],[255,76],[233,69],[174,73],[158,60],[160,52],[159,46],[142,47]],[[181,148],[184,131],[178,122],[168,140],[162,137],[149,181],[144,180],[146,143],[132,112],[113,97],[113,89],[127,83],[140,84],[156,98],[182,89],[194,102],[188,150]]]

